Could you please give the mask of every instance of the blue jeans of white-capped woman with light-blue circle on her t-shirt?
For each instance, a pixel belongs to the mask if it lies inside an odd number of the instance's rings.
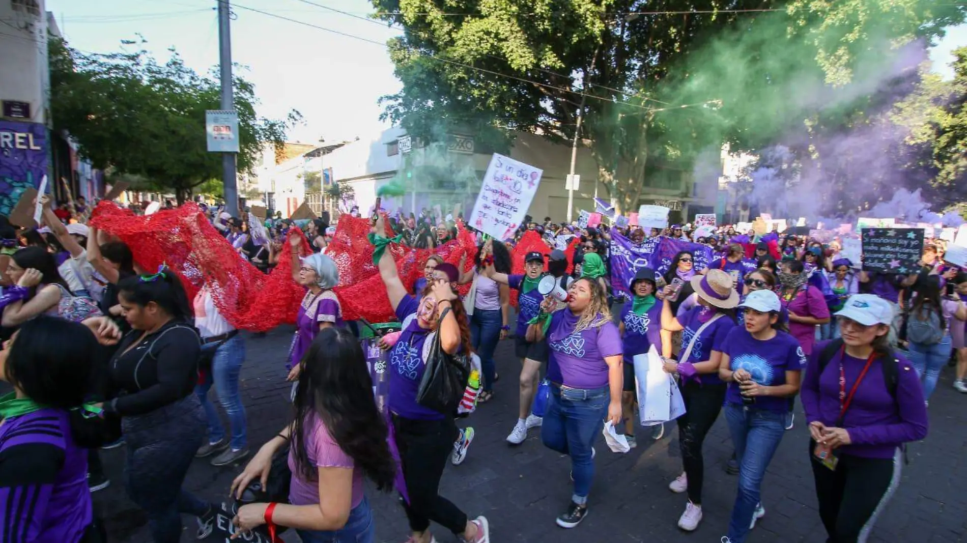
[[[762,478],[785,435],[785,414],[735,404],[725,404],[723,409],[739,462],[739,493],[732,506],[728,538],[743,543],[761,500]]]

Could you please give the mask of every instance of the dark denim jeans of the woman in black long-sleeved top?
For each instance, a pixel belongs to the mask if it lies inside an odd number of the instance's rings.
[[[128,447],[128,496],[148,515],[155,543],[181,540],[180,513],[199,517],[209,504],[182,489],[201,445],[204,412],[194,394],[147,414],[121,418]]]

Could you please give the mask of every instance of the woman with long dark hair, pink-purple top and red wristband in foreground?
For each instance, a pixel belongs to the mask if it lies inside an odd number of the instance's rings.
[[[262,445],[232,482],[232,494],[240,497],[252,480],[264,485],[272,458],[291,440],[289,503],[243,505],[232,524],[247,530],[271,520],[296,529],[304,543],[372,543],[375,528],[363,478],[389,491],[396,464],[372,397],[366,357],[348,330],[324,329],[301,363],[292,424]]]

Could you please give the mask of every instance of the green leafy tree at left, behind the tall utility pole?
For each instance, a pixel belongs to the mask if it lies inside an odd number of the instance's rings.
[[[220,178],[221,154],[207,151],[205,136],[205,110],[220,108],[220,84],[186,67],[174,49],[160,63],[143,43],[124,43],[134,52],[87,54],[51,40],[53,127],[69,132],[95,167],[141,176],[181,203],[195,187]],[[247,172],[263,145],[282,145],[300,115],[258,117],[251,83],[236,76],[233,90],[238,170]]]

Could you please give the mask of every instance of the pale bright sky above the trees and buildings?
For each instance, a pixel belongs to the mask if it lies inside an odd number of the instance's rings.
[[[156,57],[166,58],[174,47],[199,72],[219,63],[216,5],[215,0],[46,1],[74,48],[112,52],[122,40],[140,35]],[[245,67],[241,74],[255,85],[258,113],[282,119],[296,109],[304,117],[290,131],[290,141],[366,139],[389,128],[379,121],[378,100],[398,92],[400,83],[386,47],[309,26],[386,43],[399,31],[320,7],[365,17],[373,12],[367,0],[232,0],[232,6],[232,61]],[[951,52],[965,45],[967,25],[950,29],[931,50],[934,70],[950,77]]]

